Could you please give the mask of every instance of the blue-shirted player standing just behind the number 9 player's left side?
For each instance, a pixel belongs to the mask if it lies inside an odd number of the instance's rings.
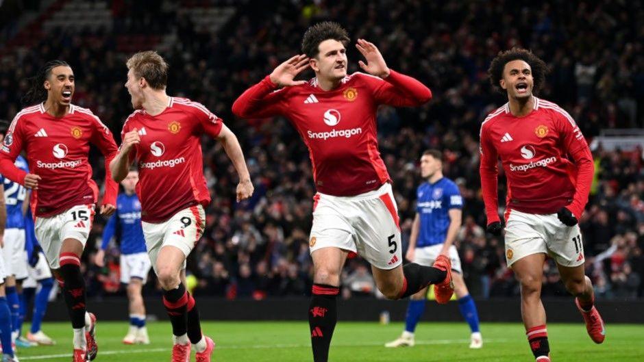
[[[110,218],[103,230],[103,244],[96,254],[97,266],[104,266],[105,250],[110,240],[119,229],[121,234],[121,283],[127,284],[129,299],[129,331],[124,344],[149,344],[150,339],[145,328],[145,304],[141,289],[147,280],[152,267],[145,248],[143,229],[141,227],[141,203],[135,193],[138,171],[130,170],[121,181],[123,194],[116,199],[116,214]]]

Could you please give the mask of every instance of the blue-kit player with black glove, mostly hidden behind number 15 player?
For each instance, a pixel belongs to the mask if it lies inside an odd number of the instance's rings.
[[[29,196],[27,196],[27,200],[29,200]],[[36,240],[34,218],[29,209],[27,209],[27,215],[25,215],[25,241],[25,248],[27,249],[25,250],[27,254],[25,257],[29,262],[29,267],[27,268],[29,276],[23,282],[23,298],[20,300],[18,339],[16,341],[51,346],[55,344],[55,341],[42,332],[40,327],[42,326],[42,318],[45,318],[45,313],[47,312],[47,303],[49,302],[49,295],[51,294],[54,283],[45,253],[42,252],[42,248],[38,244],[38,240]],[[32,326],[29,328],[27,338],[23,339],[23,337],[20,337],[22,322],[25,319],[27,306],[32,298],[34,298]]]

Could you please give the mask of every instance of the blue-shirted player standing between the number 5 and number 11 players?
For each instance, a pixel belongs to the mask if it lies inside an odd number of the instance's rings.
[[[421,176],[425,179],[417,190],[416,217],[412,224],[406,258],[421,266],[431,266],[438,255],[451,259],[454,292],[458,308],[471,330],[470,348],[481,348],[478,313],[469,296],[460,268],[460,258],[454,240],[460,229],[463,201],[454,181],[443,177],[443,153],[425,151],[421,157]],[[427,288],[410,297],[405,330],[386,347],[414,346],[414,330],[425,310]]]

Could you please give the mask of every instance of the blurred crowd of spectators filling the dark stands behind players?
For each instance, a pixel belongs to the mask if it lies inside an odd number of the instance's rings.
[[[206,234],[188,260],[195,296],[265,298],[310,293],[311,225],[314,185],[308,152],[284,118],[240,120],[230,107],[236,96],[260,81],[282,60],[299,53],[304,29],[332,18],[352,39],[374,42],[388,66],[417,77],[434,99],[423,107],[378,112],[380,151],[393,179],[404,242],[414,217],[421,182],[418,159],[426,148],[445,153],[445,176],[465,198],[458,237],[462,267],[473,296],[516,296],[518,285],[506,268],[503,240],[486,235],[478,175],[478,131],[486,114],[502,105],[486,76],[494,55],[521,45],[542,57],[551,73],[541,96],[567,109],[587,139],[606,128],[644,128],[644,31],[636,25],[643,5],[623,1],[573,4],[567,1],[254,1],[231,3],[232,19],[213,36],[162,2],[116,1],[114,29],[52,31],[27,51],[3,49],[0,57],[0,118],[21,109],[27,78],[45,60],[71,64],[77,85],[73,103],[99,115],[119,142],[123,120],[132,112],[123,88],[123,34],[175,33],[162,55],[171,64],[169,94],[186,96],[221,116],[242,142],[256,187],[250,201],[234,199],[234,169],[221,146],[204,140],[206,178],[212,193]],[[209,3],[187,1],[186,3]],[[267,4],[271,3],[271,4]],[[270,13],[263,9],[271,8]],[[147,27],[162,18],[164,27]],[[349,51],[349,73],[358,70],[358,52]],[[312,77],[306,73],[305,77]],[[643,150],[593,150],[596,179],[582,216],[587,273],[600,298],[644,296]],[[92,154],[95,177],[104,175]],[[501,177],[502,179],[503,177]],[[499,186],[501,195],[505,194]],[[503,199],[502,196],[500,199]],[[499,210],[501,212],[503,210]],[[99,243],[95,223],[90,243]],[[93,250],[90,246],[88,250]],[[85,255],[90,296],[123,293],[117,248],[108,265],[97,268]],[[343,296],[373,296],[366,264],[353,259],[345,269]],[[554,263],[543,274],[543,294],[565,295]],[[154,293],[149,283],[146,292]]]

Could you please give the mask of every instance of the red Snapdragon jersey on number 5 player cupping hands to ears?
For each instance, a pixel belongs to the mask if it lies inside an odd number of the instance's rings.
[[[389,181],[378,151],[377,107],[419,106],[432,97],[422,83],[393,70],[385,79],[354,73],[329,91],[319,88],[317,78],[275,88],[270,77],[264,78],[235,101],[233,113],[286,116],[308,147],[317,189],[335,196],[362,194]]]

